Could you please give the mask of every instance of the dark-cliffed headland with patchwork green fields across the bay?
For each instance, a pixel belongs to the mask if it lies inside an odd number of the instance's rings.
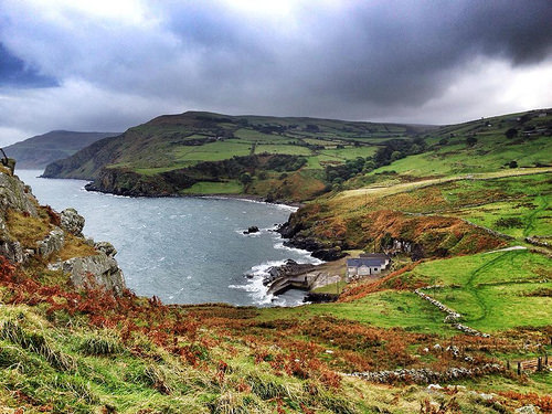
[[[130,195],[236,193],[304,200],[323,192],[328,166],[372,156],[427,127],[335,119],[164,115],[47,166],[44,177],[95,180]],[[406,146],[407,147],[407,146]]]

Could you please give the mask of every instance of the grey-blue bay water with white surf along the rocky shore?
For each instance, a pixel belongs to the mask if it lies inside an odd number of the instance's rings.
[[[285,247],[272,231],[295,210],[289,206],[233,199],[132,199],[85,191],[82,180],[41,179],[38,170],[17,173],[41,204],[76,209],[86,219],[86,236],[114,244],[127,286],[137,295],[156,295],[168,304],[293,306],[304,293],[269,297],[263,275],[287,258],[319,263],[308,252]],[[244,235],[250,225],[261,232]]]

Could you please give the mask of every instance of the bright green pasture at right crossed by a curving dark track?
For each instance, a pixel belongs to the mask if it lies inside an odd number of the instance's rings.
[[[552,277],[550,258],[541,254],[510,251],[432,261],[404,277],[444,285],[426,293],[482,331],[551,323],[552,298],[524,296],[552,287],[544,282]]]

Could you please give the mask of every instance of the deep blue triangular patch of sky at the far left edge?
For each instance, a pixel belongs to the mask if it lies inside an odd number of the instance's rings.
[[[41,75],[0,43],[0,87],[50,87],[57,85],[55,78]]]

